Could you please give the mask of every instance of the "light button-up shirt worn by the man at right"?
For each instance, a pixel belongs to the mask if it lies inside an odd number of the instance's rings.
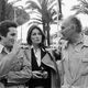
[[[63,50],[64,85],[88,87],[88,36]]]

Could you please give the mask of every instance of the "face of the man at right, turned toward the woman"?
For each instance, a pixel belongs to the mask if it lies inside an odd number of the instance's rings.
[[[62,24],[62,34],[65,40],[72,40],[74,34],[76,33],[75,24],[70,22],[70,20],[66,20]]]

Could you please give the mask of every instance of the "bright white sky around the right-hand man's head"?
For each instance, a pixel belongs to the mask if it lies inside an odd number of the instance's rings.
[[[63,6],[64,18],[67,18],[70,14],[74,14],[75,11],[70,11],[73,6],[78,3],[77,0],[63,0],[65,6]],[[81,21],[82,26],[88,26],[88,15],[87,14],[78,14],[77,18]]]

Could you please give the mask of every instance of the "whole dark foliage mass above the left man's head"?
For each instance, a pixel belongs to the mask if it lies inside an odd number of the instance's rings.
[[[19,1],[19,0],[18,0]],[[4,4],[4,6],[2,6]],[[8,0],[0,0],[0,21],[4,20],[14,20],[14,11],[16,15],[16,22],[19,25],[25,23],[30,20],[30,15],[25,12],[25,10],[20,9],[19,7],[13,7],[13,4],[8,3]]]

